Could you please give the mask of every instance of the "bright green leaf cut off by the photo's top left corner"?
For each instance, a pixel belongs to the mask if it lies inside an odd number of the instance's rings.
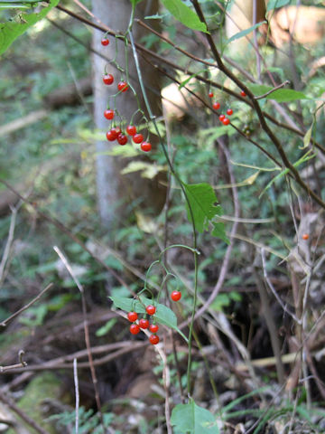
[[[7,22],[0,24],[0,55],[3,54],[18,36],[25,33],[33,24],[42,20],[60,0],[51,0],[50,5],[42,8],[38,14],[21,14],[21,22]]]

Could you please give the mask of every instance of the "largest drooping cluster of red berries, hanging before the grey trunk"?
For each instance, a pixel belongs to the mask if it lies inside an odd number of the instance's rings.
[[[101,44],[104,46],[109,44],[109,40],[107,39],[107,37],[102,39]],[[114,83],[114,81],[115,81],[115,79],[114,79],[114,76],[112,74],[105,73],[103,75],[103,82],[107,86],[112,85]],[[125,80],[120,80],[117,83],[117,94],[120,92],[124,93],[128,89],[129,89],[129,85]],[[109,107],[104,111],[104,117],[107,118],[108,120],[113,120],[115,118],[115,115],[116,115],[115,110],[109,109]],[[145,141],[144,136],[141,133],[137,133],[136,127],[134,125],[127,126],[125,128],[125,133],[124,133],[122,131],[122,126],[116,127],[115,122],[113,120],[112,127],[111,127],[111,129],[109,129],[107,131],[106,136],[107,136],[107,140],[109,142],[114,142],[115,140],[117,140],[119,145],[122,145],[122,146],[126,145],[126,143],[128,142],[127,136],[130,136],[130,137],[132,137],[133,142],[137,145],[140,145],[140,148],[144,152],[149,152],[152,149],[151,143],[148,141]]]

